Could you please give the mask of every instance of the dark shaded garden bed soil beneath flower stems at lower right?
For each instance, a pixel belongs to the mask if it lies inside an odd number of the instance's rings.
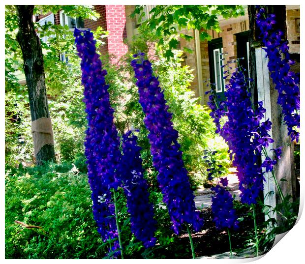
[[[233,249],[233,258],[253,258],[255,249],[245,247],[245,240],[253,237],[254,226],[253,219],[247,217],[248,212],[242,208],[239,215],[244,217],[244,221],[240,224],[238,231],[232,231],[231,241]],[[203,230],[192,234],[192,239],[195,247],[196,258],[230,258],[230,247],[228,233],[226,231],[218,231],[212,221],[213,214],[211,208],[201,210],[201,216],[204,218]],[[189,237],[187,231],[183,230],[182,235],[179,235],[175,242],[167,247],[155,246],[155,250],[149,256],[133,256],[133,258],[147,257],[150,259],[191,259]],[[216,256],[215,256],[216,255]]]

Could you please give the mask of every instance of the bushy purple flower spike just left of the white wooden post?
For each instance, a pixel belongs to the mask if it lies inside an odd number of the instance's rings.
[[[256,110],[252,108],[248,83],[249,79],[244,77],[240,67],[231,75],[229,84],[226,85],[227,99],[221,103],[227,109],[225,111],[222,108],[219,112],[219,116],[226,115],[228,119],[219,129],[219,134],[228,144],[231,158],[234,154],[233,166],[236,166],[238,171],[241,201],[250,205],[256,203],[263,189],[264,177],[260,165],[262,148],[268,147],[274,140],[268,134],[271,122],[261,122],[266,112],[263,103],[258,102]],[[210,100],[213,100],[213,96],[210,97]],[[210,101],[211,104],[214,104],[214,101]],[[268,169],[273,167],[273,163],[268,164]]]

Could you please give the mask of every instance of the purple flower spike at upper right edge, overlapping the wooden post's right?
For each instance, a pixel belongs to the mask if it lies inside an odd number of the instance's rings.
[[[277,103],[282,107],[288,135],[298,142],[300,133],[295,127],[300,128],[300,75],[290,70],[294,61],[290,59],[288,41],[282,40],[283,32],[275,29],[275,15],[267,15],[264,8],[258,7],[256,24],[266,47],[268,68],[278,91]]]

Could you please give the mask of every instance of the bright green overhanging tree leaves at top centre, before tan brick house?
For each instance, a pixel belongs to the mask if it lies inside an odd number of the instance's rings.
[[[139,15],[139,20],[143,19],[144,7],[136,5],[131,17]],[[193,39],[193,36],[179,32],[181,29],[197,29],[200,40],[209,40],[209,29],[220,31],[218,17],[228,19],[240,15],[244,15],[242,5],[155,5],[150,11],[151,17],[143,25],[155,30],[159,44],[164,43],[164,38],[171,38],[166,52],[166,57],[170,58],[174,56],[172,49],[179,44],[178,36],[185,40]],[[184,48],[184,51],[191,52],[188,48]]]

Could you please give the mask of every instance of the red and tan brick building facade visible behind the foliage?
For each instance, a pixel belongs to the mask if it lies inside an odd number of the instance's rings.
[[[144,9],[144,20],[150,18],[150,11],[154,5],[147,5]],[[111,63],[117,63],[122,55],[128,51],[127,42],[134,37],[139,37],[138,27],[143,22],[138,17],[131,18],[134,5],[94,5],[94,10],[99,13],[100,18],[96,21],[81,18],[72,18],[59,11],[56,14],[48,14],[37,17],[38,23],[44,25],[47,22],[53,24],[67,25],[71,30],[74,28],[92,29],[102,27],[109,32],[105,38],[105,45],[101,47],[101,54],[109,55]],[[193,39],[186,41],[181,39],[180,47],[191,49],[192,53],[185,53],[183,59],[185,64],[193,70],[194,80],[191,89],[196,97],[200,97],[200,103],[206,105],[208,96],[205,92],[210,89],[207,83],[215,83],[215,88],[220,96],[224,96],[225,81],[223,77],[223,64],[232,62],[237,58],[244,58],[241,63],[248,69],[248,30],[249,19],[247,6],[244,6],[244,16],[237,18],[219,18],[221,31],[219,33],[209,30],[212,36],[211,41],[200,41],[199,32],[194,29],[183,29],[182,33],[193,36]],[[293,59],[300,62],[300,6],[286,5],[287,37],[290,46],[290,53]],[[42,41],[47,41],[42,39]],[[66,59],[61,55],[61,60]],[[299,71],[299,64],[294,66]],[[22,79],[22,78],[21,78]],[[21,80],[22,81],[22,80]]]

